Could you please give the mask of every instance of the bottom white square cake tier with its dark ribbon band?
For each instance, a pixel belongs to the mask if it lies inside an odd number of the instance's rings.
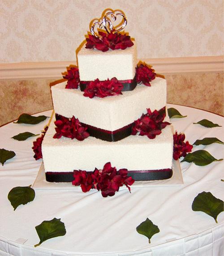
[[[84,141],[61,137],[54,139],[55,119],[42,143],[46,180],[73,181],[73,170],[94,171],[111,162],[117,169],[126,168],[136,181],[162,180],[172,177],[173,137],[170,126],[149,139],[131,135],[121,141],[108,142],[95,137]]]

